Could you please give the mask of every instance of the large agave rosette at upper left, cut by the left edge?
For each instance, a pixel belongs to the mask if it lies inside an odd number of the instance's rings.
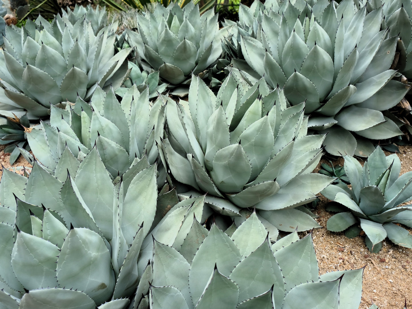
[[[65,16],[52,23],[41,16],[19,29],[7,28],[0,54],[2,115],[47,118],[50,105],[89,98],[99,85],[120,87],[128,72],[131,48],[114,54],[113,25],[97,35],[91,22],[72,24]]]

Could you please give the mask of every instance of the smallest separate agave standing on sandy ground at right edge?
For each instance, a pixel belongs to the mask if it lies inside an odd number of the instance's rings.
[[[353,157],[344,158],[351,189],[330,185],[321,192],[333,200],[326,209],[338,212],[328,220],[328,230],[345,231],[350,238],[363,230],[372,252],[381,250],[386,237],[399,246],[412,248],[412,235],[400,225],[412,227],[412,206],[400,205],[412,197],[412,172],[399,176],[398,156],[385,157],[380,147],[363,167]]]

